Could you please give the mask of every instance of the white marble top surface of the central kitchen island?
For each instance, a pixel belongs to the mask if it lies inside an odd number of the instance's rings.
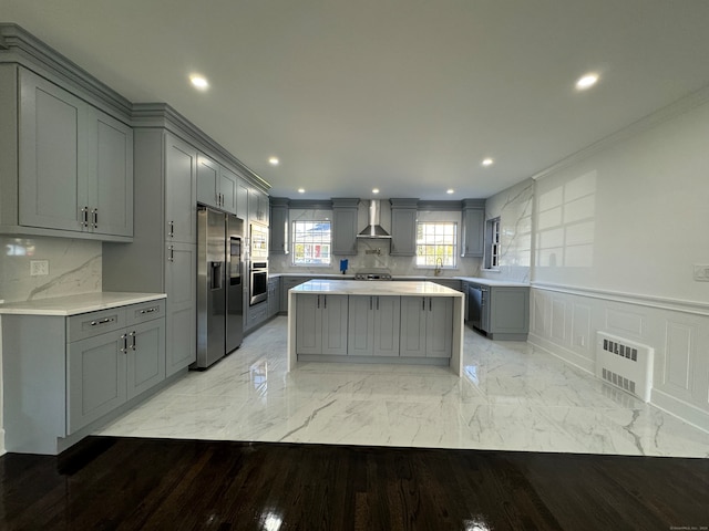
[[[294,293],[340,295],[463,296],[463,293],[433,282],[401,280],[309,280],[288,290]]]

